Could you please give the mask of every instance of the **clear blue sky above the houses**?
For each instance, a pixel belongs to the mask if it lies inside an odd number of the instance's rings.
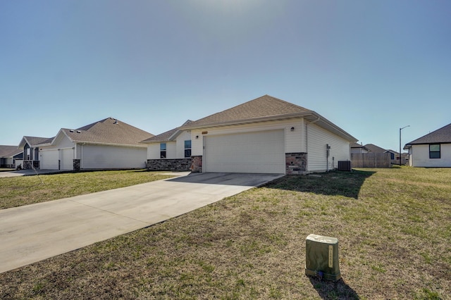
[[[385,149],[451,123],[449,0],[0,1],[0,144],[269,94]]]

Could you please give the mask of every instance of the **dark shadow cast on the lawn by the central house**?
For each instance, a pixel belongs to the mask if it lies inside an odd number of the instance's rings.
[[[352,170],[351,172],[331,171],[310,175],[287,175],[269,183],[266,187],[328,196],[341,195],[357,199],[366,178],[374,173],[376,172]]]

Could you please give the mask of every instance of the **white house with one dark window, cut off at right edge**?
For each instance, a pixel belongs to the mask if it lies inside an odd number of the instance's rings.
[[[405,144],[412,167],[451,167],[451,124]]]

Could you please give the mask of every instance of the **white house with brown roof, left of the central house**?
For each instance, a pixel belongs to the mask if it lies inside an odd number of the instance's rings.
[[[87,170],[145,168],[153,135],[114,118],[78,129],[61,128],[49,143],[39,144],[41,169]]]

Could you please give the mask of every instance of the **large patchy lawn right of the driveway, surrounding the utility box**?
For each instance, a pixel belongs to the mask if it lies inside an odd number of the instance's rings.
[[[286,176],[0,274],[1,299],[450,299],[451,169]],[[304,275],[338,237],[342,280]]]

